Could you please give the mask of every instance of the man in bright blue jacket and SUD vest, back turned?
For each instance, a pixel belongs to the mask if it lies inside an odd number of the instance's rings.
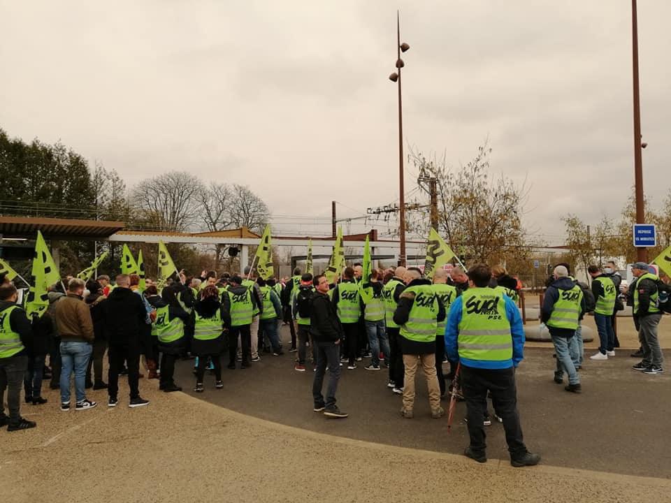
[[[517,306],[500,291],[490,289],[490,279],[489,266],[470,268],[470,287],[450,307],[445,328],[447,356],[461,363],[470,436],[464,454],[477,462],[487,460],[482,417],[489,391],[494,410],[503,419],[510,464],[537,465],[540,455],[527,451],[517,412],[514,367],[524,358],[524,327]]]

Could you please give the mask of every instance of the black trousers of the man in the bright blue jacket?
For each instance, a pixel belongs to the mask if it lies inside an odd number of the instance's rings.
[[[510,458],[524,456],[527,451],[519,425],[514,368],[488,370],[461,365],[461,389],[466,399],[470,449],[477,454],[484,454],[486,450],[482,418],[487,410],[487,392],[490,391],[494,411],[503,419]]]

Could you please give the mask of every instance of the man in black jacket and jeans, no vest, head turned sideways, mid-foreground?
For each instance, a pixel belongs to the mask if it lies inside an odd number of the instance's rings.
[[[324,411],[324,416],[346,418],[347,414],[340,411],[335,404],[335,391],[340,379],[340,356],[338,348],[342,340],[342,325],[338,320],[335,307],[329,299],[329,281],[324,275],[318,275],[313,280],[317,289],[312,296],[310,309],[310,335],[315,344],[317,353],[317,368],[315,381],[312,384],[312,399],[315,401],[315,412]],[[326,400],[322,395],[324,374],[329,367],[329,384],[326,387]]]

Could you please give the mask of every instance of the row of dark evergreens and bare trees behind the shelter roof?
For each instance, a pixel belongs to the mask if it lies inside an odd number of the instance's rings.
[[[203,182],[187,171],[171,171],[127,187],[115,169],[88,161],[61,142],[54,145],[37,138],[26,143],[10,138],[0,129],[0,176],[4,194],[0,214],[122,221],[127,228],[145,231],[223,231],[245,226],[261,233],[270,218],[264,201],[244,185]],[[86,268],[94,255],[94,242],[52,243],[61,254],[63,275]],[[130,244],[135,254],[141,248],[145,268],[156,268],[157,247]],[[121,245],[104,242],[98,253],[109,251],[99,269],[117,272]],[[168,245],[175,263],[189,272],[212,267],[208,250],[190,245]],[[224,247],[215,249],[215,266],[223,263]],[[227,265],[231,265],[230,261]],[[16,265],[29,271],[29,262]]]

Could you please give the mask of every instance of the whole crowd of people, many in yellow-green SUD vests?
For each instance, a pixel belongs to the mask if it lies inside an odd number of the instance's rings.
[[[611,266],[612,269],[612,266]],[[657,340],[661,319],[659,278],[644,263],[634,265],[636,284],[624,291],[633,305],[639,328],[642,362],[635,370],[663,372]],[[486,461],[484,427],[491,424],[487,398],[503,423],[513,466],[535,465],[523,441],[514,380],[514,367],[524,358],[524,328],[519,308],[519,283],[503,266],[490,270],[479,264],[468,272],[454,267],[449,274],[433,271],[432,279],[419,268],[374,269],[364,278],[361,265],[347,267],[338,282],[324,275],[301,274],[277,281],[203,271],[187,278],[183,272],[165,285],[150,279],[140,289],[138,275],[118,275],[114,284],[102,275],[85,283],[66,278],[52,287],[50,307],[41,316],[27,317],[17,305],[17,289],[2,279],[0,285],[0,391],[7,391],[9,415],[0,415],[8,431],[34,428],[20,415],[20,393],[34,405],[42,397],[43,379],[60,390],[60,409],[71,409],[74,376],[75,411],[96,407],[86,391],[106,389],[108,407],[119,404],[119,377],[127,375],[128,406],[149,402],[139,394],[143,360],[148,379],[159,389],[181,391],[175,383],[175,361],[194,356],[194,391],[205,389],[205,372],[222,388],[222,356],[230,370],[247,369],[264,353],[284,354],[278,336],[289,326],[289,353],[296,353],[294,370],[305,372],[312,363],[313,409],[331,418],[345,418],[335,395],[341,369],[363,368],[388,372],[387,386],[402,395],[401,415],[414,417],[418,370],[428,386],[431,416],[445,414],[441,398],[454,386],[466,401],[470,444],[465,453]],[[594,312],[600,335],[593,360],[614,354],[612,316],[618,309],[619,282],[613,270],[589,268],[590,286],[570,276],[568,264],[554,268],[541,309],[541,320],[556,350],[554,380],[566,391],[579,393],[582,365],[581,320]],[[308,348],[310,355],[308,355]],[[103,358],[108,354],[108,381],[103,380]],[[49,356],[49,365],[46,357]],[[443,363],[449,372],[443,373]],[[239,364],[239,365],[238,365]],[[329,372],[326,393],[324,379]]]

